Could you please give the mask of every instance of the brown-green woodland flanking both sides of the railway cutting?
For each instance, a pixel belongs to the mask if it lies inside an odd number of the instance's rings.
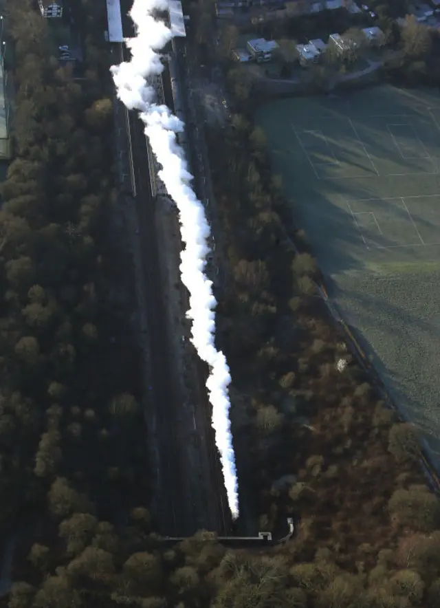
[[[113,221],[105,3],[79,4],[76,80],[34,3],[6,2],[16,96],[0,210],[0,545],[14,556],[0,605],[436,607],[440,509],[417,434],[316,298],[319,270],[245,108],[209,138],[231,276],[219,343],[242,491],[264,529],[292,512],[299,523],[291,542],[256,552],[212,532],[173,547],[155,534],[131,260]]]

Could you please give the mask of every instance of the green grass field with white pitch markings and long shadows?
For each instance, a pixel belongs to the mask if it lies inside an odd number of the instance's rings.
[[[256,118],[331,296],[440,468],[440,95],[384,85]]]

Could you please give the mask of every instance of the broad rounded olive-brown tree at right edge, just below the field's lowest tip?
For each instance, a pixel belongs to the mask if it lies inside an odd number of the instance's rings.
[[[430,532],[440,523],[440,503],[428,488],[396,490],[388,501],[388,510],[413,530]]]

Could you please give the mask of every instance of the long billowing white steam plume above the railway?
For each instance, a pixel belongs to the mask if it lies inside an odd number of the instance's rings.
[[[212,426],[228,502],[235,519],[239,514],[239,501],[229,420],[230,373],[225,356],[214,345],[214,307],[217,302],[212,295],[212,282],[204,274],[210,228],[203,205],[190,186],[192,175],[188,173],[184,153],[176,141],[176,133],[183,131],[184,125],[168,107],[153,102],[155,90],[146,82],[148,76],[162,72],[159,51],[173,36],[162,21],[153,17],[156,10],[167,7],[166,0],[134,0],[130,17],[136,36],[125,41],[131,51],[131,61],[113,65],[111,73],[120,100],[128,109],[140,112],[151,149],[162,165],[159,177],[179,210],[181,238],[185,243],[180,271],[181,280],[190,294],[187,316],[192,320],[191,341],[199,357],[210,368],[206,387],[212,404]]]

